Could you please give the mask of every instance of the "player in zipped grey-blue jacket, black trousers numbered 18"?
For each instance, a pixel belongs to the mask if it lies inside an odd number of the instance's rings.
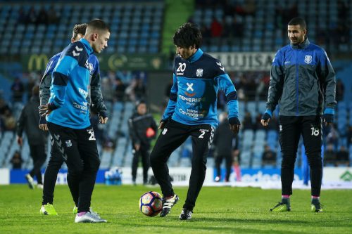
[[[279,49],[272,62],[267,110],[260,120],[263,126],[268,126],[279,103],[282,201],[270,211],[291,210],[289,197],[302,134],[310,166],[311,210],[322,212],[322,119],[327,126],[334,120],[335,72],[324,49],[308,40],[303,18],[289,21],[287,35],[290,44]]]

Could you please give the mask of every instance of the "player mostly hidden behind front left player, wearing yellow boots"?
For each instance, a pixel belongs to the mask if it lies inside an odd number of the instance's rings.
[[[75,25],[73,27],[73,34],[71,37],[71,43],[78,41],[81,39],[87,29],[87,24]],[[61,53],[57,53],[53,56],[46,67],[44,72],[42,81],[40,83],[40,104],[45,105],[48,103],[50,97],[50,85],[51,85],[51,74],[58,63],[58,58],[60,58]],[[106,106],[103,103],[103,97],[101,95],[100,89],[100,74],[99,74],[99,61],[94,54],[90,55],[88,58],[89,63],[89,72],[91,75],[91,83],[90,83],[90,97],[87,97],[87,102],[90,104],[92,100],[92,104],[94,108],[99,112],[100,122],[105,124],[108,120],[106,117]],[[47,131],[46,119],[45,117],[40,118],[39,128],[43,131]],[[43,189],[43,200],[42,207],[40,209],[40,213],[42,214],[54,214],[57,215],[56,210],[53,206],[54,200],[54,188],[56,183],[56,178],[59,169],[61,168],[64,158],[58,146],[54,144],[52,141],[51,145],[51,157],[49,158],[48,165],[46,166],[45,174],[44,174],[44,189]],[[73,201],[75,202],[75,207],[73,212],[77,213],[77,204],[78,204],[78,188],[73,188],[73,185],[70,183],[70,171],[68,171],[68,186],[70,188],[71,194],[73,196]],[[91,209],[91,212],[92,209]]]

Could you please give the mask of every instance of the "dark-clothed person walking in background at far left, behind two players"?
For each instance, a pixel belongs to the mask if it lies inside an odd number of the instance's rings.
[[[32,97],[30,101],[23,108],[20,118],[17,122],[17,143],[23,145],[23,131],[27,135],[28,143],[30,145],[30,157],[33,160],[33,169],[29,174],[25,175],[28,186],[34,188],[33,177],[37,177],[38,188],[43,188],[42,168],[46,160],[46,140],[48,133],[39,129],[39,86],[34,86],[32,89]]]

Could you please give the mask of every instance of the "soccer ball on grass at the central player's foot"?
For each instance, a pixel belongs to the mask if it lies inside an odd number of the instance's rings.
[[[146,216],[156,216],[161,212],[163,202],[159,193],[150,191],[139,199],[139,210]]]

